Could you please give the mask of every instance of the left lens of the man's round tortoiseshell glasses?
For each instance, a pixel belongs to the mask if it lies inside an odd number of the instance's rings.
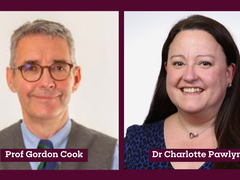
[[[27,81],[37,81],[41,76],[41,67],[36,64],[22,66],[22,75]]]

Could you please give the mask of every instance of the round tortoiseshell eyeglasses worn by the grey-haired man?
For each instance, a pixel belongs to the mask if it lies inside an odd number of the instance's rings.
[[[21,71],[23,79],[28,82],[36,82],[41,79],[43,69],[47,68],[50,76],[56,81],[64,81],[70,75],[73,64],[65,62],[53,63],[51,66],[41,66],[36,63],[26,63],[19,67],[12,67]]]

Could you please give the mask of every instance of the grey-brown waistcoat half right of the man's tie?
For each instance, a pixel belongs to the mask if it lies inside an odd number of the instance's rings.
[[[72,121],[67,148],[88,150],[88,162],[76,163],[73,169],[111,169],[116,142],[113,137]]]

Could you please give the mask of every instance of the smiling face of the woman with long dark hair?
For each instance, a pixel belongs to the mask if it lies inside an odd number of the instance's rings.
[[[235,65],[227,66],[222,47],[203,30],[184,30],[169,47],[167,93],[178,111],[218,113]]]

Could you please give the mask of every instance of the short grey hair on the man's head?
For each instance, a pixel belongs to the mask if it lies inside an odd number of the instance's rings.
[[[71,61],[74,64],[76,63],[74,40],[71,32],[60,23],[38,19],[33,22],[27,22],[14,31],[11,37],[10,67],[13,67],[15,64],[18,42],[26,36],[39,34],[46,35],[51,38],[60,37],[64,39],[69,47]]]

